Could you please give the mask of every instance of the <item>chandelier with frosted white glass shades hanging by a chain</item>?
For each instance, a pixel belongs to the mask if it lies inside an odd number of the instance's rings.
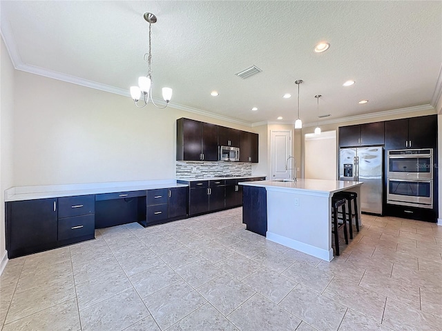
[[[144,77],[138,78],[138,86],[131,86],[131,97],[133,101],[135,101],[135,106],[138,108],[143,108],[146,106],[149,102],[149,99],[152,101],[153,106],[156,108],[164,109],[169,105],[169,101],[171,101],[172,97],[172,89],[171,88],[163,88],[162,94],[163,99],[166,101],[166,105],[164,107],[157,106],[157,104],[152,99],[152,70],[151,70],[151,64],[152,64],[152,46],[151,46],[151,36],[152,36],[152,24],[157,21],[157,17],[152,14],[151,12],[145,12],[144,13],[144,19],[149,23],[149,52],[144,54],[144,61],[147,62],[148,66],[148,72],[147,75]],[[143,96],[141,95],[143,94]],[[142,101],[144,101],[144,105],[138,106],[138,101],[140,100],[140,97],[142,97]]]

